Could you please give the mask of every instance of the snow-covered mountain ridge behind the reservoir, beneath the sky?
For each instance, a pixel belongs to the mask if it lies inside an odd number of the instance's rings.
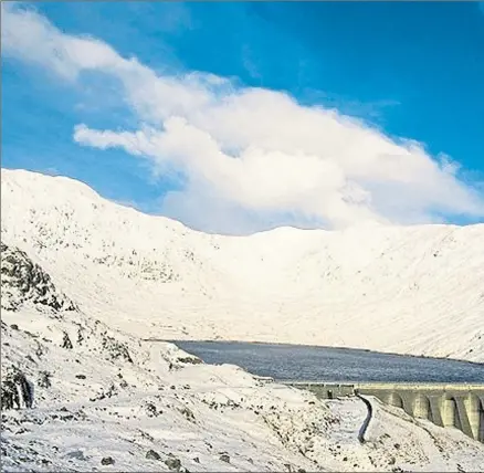
[[[3,243],[130,335],[484,361],[484,224],[211,235],[69,178],[6,169],[1,210]]]

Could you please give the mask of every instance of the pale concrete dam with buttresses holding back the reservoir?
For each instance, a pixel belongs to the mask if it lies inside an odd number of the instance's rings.
[[[443,385],[408,382],[283,382],[307,389],[320,399],[346,396],[373,396],[403,409],[415,419],[427,419],[440,427],[453,427],[467,437],[484,442],[484,385]]]

